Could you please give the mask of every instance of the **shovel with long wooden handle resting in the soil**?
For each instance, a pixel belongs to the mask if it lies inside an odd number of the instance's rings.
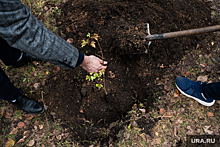
[[[177,32],[170,32],[170,33],[161,33],[161,34],[150,34],[149,24],[147,23],[147,32],[148,35],[145,37],[148,41],[152,40],[161,40],[161,39],[168,39],[168,38],[174,38],[174,37],[180,37],[180,36],[187,36],[187,35],[197,35],[197,34],[203,34],[208,32],[215,32],[220,31],[220,25],[205,27],[205,28],[198,28],[198,29],[191,29],[191,30],[184,30],[184,31],[177,31]],[[150,45],[151,42],[149,42],[148,45]]]

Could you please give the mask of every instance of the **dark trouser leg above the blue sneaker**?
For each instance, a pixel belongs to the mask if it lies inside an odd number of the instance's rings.
[[[209,99],[220,100],[220,82],[205,84],[203,93]]]

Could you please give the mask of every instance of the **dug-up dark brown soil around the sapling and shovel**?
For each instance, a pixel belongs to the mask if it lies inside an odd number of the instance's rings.
[[[79,140],[107,138],[101,133],[106,130],[100,128],[123,119],[134,103],[142,102],[149,111],[158,96],[156,92],[163,91],[155,84],[156,78],[180,60],[185,50],[193,50],[197,43],[204,44],[212,37],[203,34],[159,40],[148,48],[148,41],[144,40],[146,23],[150,24],[151,34],[214,25],[209,3],[200,0],[69,0],[62,11],[58,22],[65,39],[73,38],[73,45],[84,54],[101,56],[97,43],[97,48],[81,47],[87,33],[98,33],[108,61],[107,95],[95,83],[85,80],[87,73],[80,67],[61,71],[44,87],[46,105],[73,128],[74,137]],[[108,78],[109,71],[115,78]],[[142,122],[145,131],[152,128]],[[111,133],[118,130],[115,127]]]

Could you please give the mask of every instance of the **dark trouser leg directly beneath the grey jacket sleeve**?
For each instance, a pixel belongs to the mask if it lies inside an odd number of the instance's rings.
[[[14,64],[21,56],[21,51],[8,45],[8,43],[0,38],[0,59],[6,65]]]

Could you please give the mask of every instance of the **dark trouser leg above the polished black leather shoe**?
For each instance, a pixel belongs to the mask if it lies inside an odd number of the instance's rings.
[[[12,101],[20,95],[20,90],[9,80],[5,72],[0,68],[0,99]]]

